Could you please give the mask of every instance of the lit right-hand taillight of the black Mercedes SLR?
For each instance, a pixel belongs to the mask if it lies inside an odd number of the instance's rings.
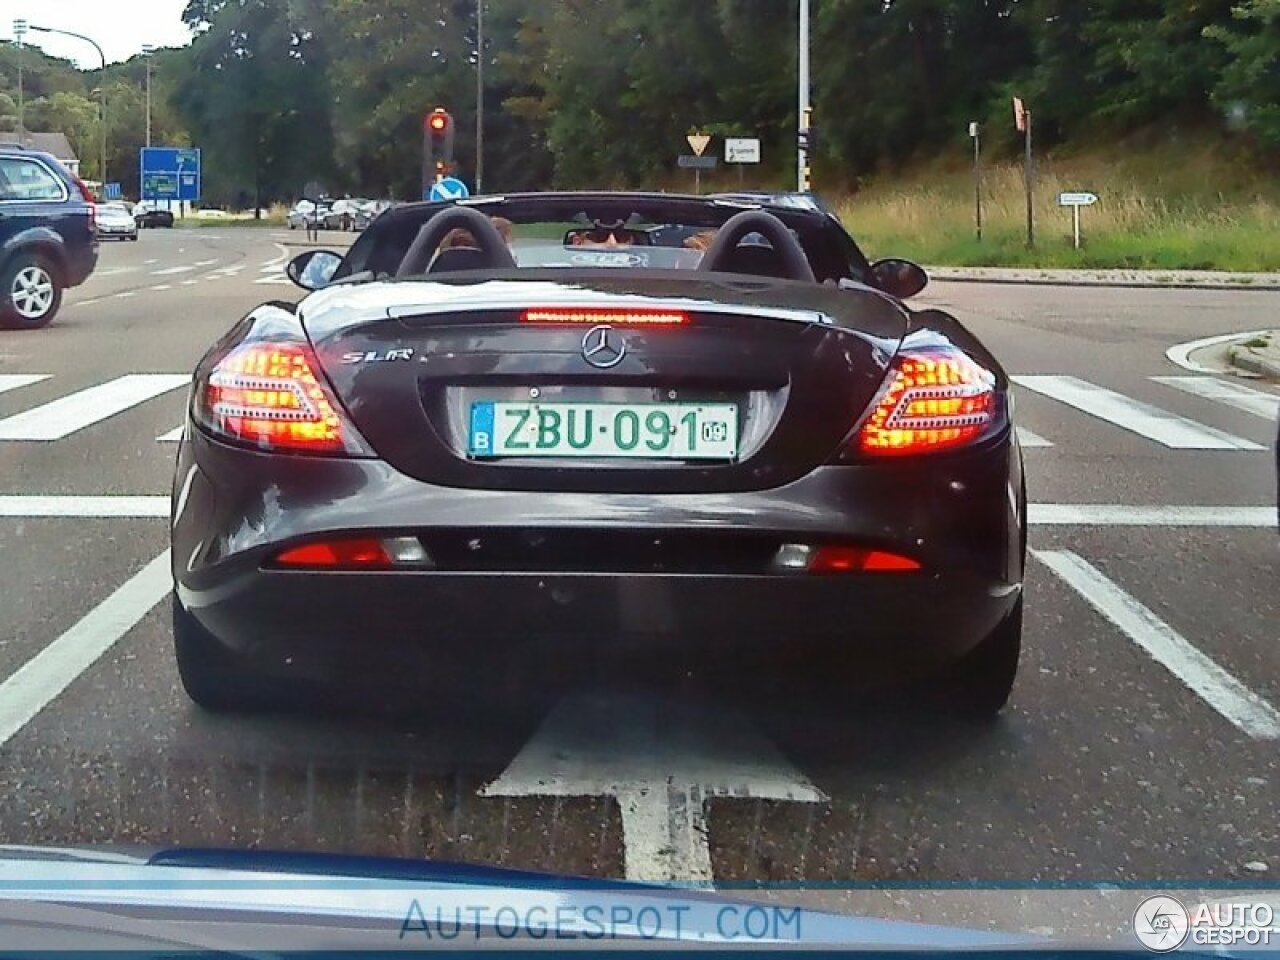
[[[928,453],[963,447],[996,420],[996,378],[957,349],[910,351],[858,433],[870,454]]]

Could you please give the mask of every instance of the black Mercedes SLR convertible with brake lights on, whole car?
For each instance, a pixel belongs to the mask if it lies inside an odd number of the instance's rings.
[[[172,538],[197,703],[657,663],[837,698],[932,671],[1005,704],[1009,381],[904,306],[918,266],[817,210],[543,193],[403,205],[288,273],[315,292],[195,375]]]

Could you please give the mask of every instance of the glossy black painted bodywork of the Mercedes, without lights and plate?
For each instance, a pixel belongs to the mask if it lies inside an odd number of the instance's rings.
[[[419,223],[421,206],[410,205]],[[367,255],[353,247],[348,266]],[[904,343],[968,352],[1002,402],[1007,379],[954,317],[845,279],[517,270],[338,283],[297,307],[260,307],[201,364],[197,389],[227,344],[305,330],[367,449],[270,454],[188,421],[174,477],[178,607],[255,675],[410,695],[431,682],[484,698],[499,672],[659,663],[735,686],[817,677],[838,696],[864,676],[961,658],[1020,604],[1025,489],[1007,410],[954,452],[868,460],[850,438]],[[666,306],[690,323],[622,329],[627,357],[600,371],[584,362],[581,328],[521,323],[521,308],[557,305]],[[403,349],[411,358],[344,360]],[[732,398],[760,420],[733,463],[470,458],[458,436],[468,402],[531,388]],[[435,567],[273,563],[340,535],[419,538]],[[888,550],[920,570],[787,572],[771,564],[786,543]]]

